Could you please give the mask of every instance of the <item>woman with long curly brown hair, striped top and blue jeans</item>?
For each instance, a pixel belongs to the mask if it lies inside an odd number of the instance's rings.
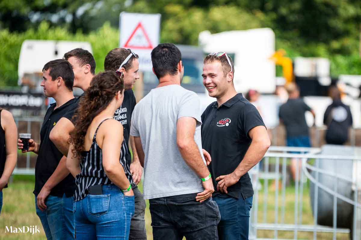
[[[134,194],[119,158],[123,126],[113,119],[124,82],[114,71],[97,74],[75,114],[66,166],[75,177],[77,240],[128,239]]]

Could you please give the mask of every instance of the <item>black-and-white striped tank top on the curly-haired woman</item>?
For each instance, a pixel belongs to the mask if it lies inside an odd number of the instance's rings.
[[[80,173],[75,178],[75,184],[77,185],[77,187],[75,188],[74,201],[79,201],[85,198],[88,194],[90,186],[113,184],[112,181],[110,181],[110,179],[105,174],[105,171],[103,169],[103,153],[96,142],[96,134],[99,130],[100,125],[108,119],[104,119],[103,121],[101,121],[101,123],[97,127],[89,151],[82,152],[82,160],[80,161]],[[125,140],[123,139],[122,146],[124,145]],[[125,170],[126,166],[124,166],[124,163],[121,161],[125,154],[125,149],[121,147],[119,162],[123,166],[125,175],[127,176],[128,180],[131,184],[133,184],[132,176],[127,173],[127,171]]]

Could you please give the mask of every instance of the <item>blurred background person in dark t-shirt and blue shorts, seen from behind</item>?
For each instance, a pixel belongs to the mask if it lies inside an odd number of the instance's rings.
[[[311,147],[309,129],[306,123],[305,112],[310,111],[315,117],[314,111],[300,98],[300,90],[295,83],[286,85],[288,100],[279,108],[279,121],[286,128],[286,144],[288,147]],[[298,164],[298,178],[300,177],[301,161],[291,159],[291,174],[296,179]]]

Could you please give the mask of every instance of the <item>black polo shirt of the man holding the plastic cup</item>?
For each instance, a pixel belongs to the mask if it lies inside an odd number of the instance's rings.
[[[40,190],[54,173],[60,159],[63,157],[63,154],[49,139],[50,131],[66,112],[74,109],[75,102],[76,99],[73,98],[55,110],[56,103],[53,103],[45,114],[42,129],[40,130],[40,147],[35,165],[35,189],[33,192],[35,195],[40,193]],[[66,197],[70,197],[74,194],[74,190],[75,180],[74,177],[69,174],[50,191],[50,195],[62,197],[65,193]]]

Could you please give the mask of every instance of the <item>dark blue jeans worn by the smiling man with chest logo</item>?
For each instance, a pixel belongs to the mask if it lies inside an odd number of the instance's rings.
[[[253,197],[239,199],[226,194],[213,197],[217,202],[221,221],[218,224],[219,240],[248,240],[249,211],[252,208]]]

